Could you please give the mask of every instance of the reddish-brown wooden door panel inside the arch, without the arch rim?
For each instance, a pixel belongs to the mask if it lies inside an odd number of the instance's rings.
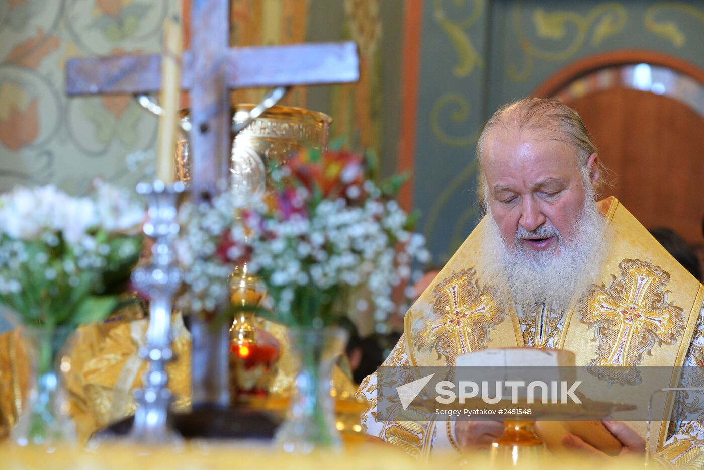
[[[700,242],[704,118],[667,96],[623,88],[568,104],[615,174],[610,192],[646,227],[670,227]]]

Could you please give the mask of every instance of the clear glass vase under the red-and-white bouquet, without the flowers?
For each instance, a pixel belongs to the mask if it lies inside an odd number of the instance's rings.
[[[289,416],[277,431],[277,444],[285,452],[302,454],[315,449],[340,450],[331,376],[347,333],[340,328],[296,327],[289,330],[289,341],[298,360],[298,375]]]

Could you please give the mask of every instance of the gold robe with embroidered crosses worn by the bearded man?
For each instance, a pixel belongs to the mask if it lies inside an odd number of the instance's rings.
[[[704,286],[616,198],[601,201],[599,207],[608,222],[608,253],[598,278],[566,312],[543,309],[517,315],[498,307],[494,288],[482,280],[487,223],[482,220],[410,307],[403,336],[384,365],[452,365],[465,352],[508,347],[564,348],[576,354],[577,366],[622,366],[624,374],[639,366],[704,365]],[[678,380],[672,377],[662,386],[676,386]],[[427,457],[434,447],[459,450],[451,421],[413,406],[403,410],[398,405],[389,412],[391,419],[377,420],[376,374],[363,381],[358,395],[369,401],[363,426],[372,436],[417,457]],[[654,436],[660,455],[674,464],[704,458],[701,421],[679,424],[667,440],[672,407],[667,403],[667,416]],[[644,436],[645,424],[629,424]]]

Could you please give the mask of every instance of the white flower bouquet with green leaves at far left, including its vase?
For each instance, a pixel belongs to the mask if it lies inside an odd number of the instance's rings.
[[[18,443],[71,437],[70,420],[56,409],[56,359],[79,324],[99,321],[118,307],[139,258],[143,218],[141,204],[108,184],[90,198],[53,186],[0,195],[0,304],[23,324],[36,355],[37,387],[13,430]]]

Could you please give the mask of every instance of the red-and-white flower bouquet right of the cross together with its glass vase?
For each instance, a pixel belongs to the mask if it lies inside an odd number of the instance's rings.
[[[370,308],[386,332],[394,287],[411,277],[414,261],[429,258],[410,231],[413,217],[394,201],[401,180],[379,189],[366,168],[354,153],[301,151],[272,169],[265,203],[242,212],[246,231],[232,231],[272,301],[263,316],[289,326],[300,359],[291,418],[278,433],[287,451],[339,447],[329,378],[346,334],[334,326],[354,305]]]

